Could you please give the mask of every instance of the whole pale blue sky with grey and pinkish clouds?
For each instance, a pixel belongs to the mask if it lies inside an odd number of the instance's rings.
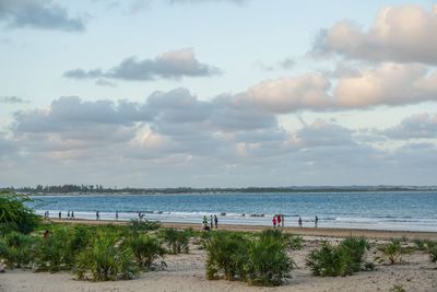
[[[437,1],[0,0],[0,187],[436,185]]]

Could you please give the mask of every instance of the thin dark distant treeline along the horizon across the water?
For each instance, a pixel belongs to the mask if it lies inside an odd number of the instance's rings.
[[[436,186],[308,186],[308,187],[246,187],[246,188],[110,188],[102,185],[62,185],[0,188],[24,194],[221,194],[221,192],[323,192],[323,191],[424,191]]]

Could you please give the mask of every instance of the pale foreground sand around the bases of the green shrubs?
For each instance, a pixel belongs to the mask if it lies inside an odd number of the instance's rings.
[[[332,238],[332,241],[338,241]],[[86,282],[73,280],[70,273],[34,273],[13,270],[0,275],[0,291],[390,291],[394,284],[402,284],[406,291],[437,291],[437,269],[423,253],[403,256],[403,264],[377,265],[376,271],[358,272],[350,277],[312,277],[305,267],[305,257],[317,243],[306,237],[303,250],[291,252],[297,264],[287,283],[277,288],[248,287],[238,281],[209,281],[205,279],[205,254],[193,246],[190,254],[167,256],[167,268],[163,271],[141,273],[139,279],[115,282]],[[368,257],[375,255],[370,250]]]

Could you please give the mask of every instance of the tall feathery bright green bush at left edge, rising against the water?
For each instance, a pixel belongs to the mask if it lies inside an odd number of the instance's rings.
[[[21,233],[31,233],[40,222],[40,218],[25,206],[29,202],[26,196],[19,196],[9,191],[0,191],[0,225],[1,230]],[[5,225],[3,225],[5,224]]]

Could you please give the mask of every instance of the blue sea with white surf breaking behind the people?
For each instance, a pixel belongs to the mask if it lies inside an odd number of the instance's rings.
[[[285,214],[285,225],[437,232],[437,191],[311,192],[311,194],[220,194],[220,195],[72,195],[34,197],[38,213],[62,217],[74,210],[75,218],[138,218],[200,223],[206,214],[218,214],[221,223],[270,225],[275,213]],[[225,215],[221,213],[226,213]],[[255,214],[257,217],[255,217]]]

